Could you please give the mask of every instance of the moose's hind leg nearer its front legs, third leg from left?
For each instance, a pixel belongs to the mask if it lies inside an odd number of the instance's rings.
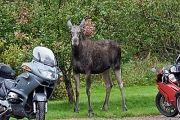
[[[108,101],[109,101],[109,95],[110,95],[110,92],[111,92],[111,89],[112,89],[112,82],[111,82],[111,79],[110,79],[109,70],[106,70],[105,72],[103,72],[102,75],[103,75],[104,83],[106,85],[106,98],[105,98],[102,110],[107,110]]]

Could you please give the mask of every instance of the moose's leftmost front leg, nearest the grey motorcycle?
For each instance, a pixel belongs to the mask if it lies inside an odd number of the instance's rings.
[[[76,85],[76,101],[75,101],[74,112],[79,112],[79,109],[78,109],[78,106],[79,106],[79,88],[80,88],[79,76],[80,76],[80,74],[74,74],[75,85]]]

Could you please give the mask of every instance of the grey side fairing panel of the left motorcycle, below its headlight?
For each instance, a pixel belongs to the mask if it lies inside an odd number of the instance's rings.
[[[41,81],[42,79],[29,72],[24,72],[18,76],[18,78],[15,80],[14,87],[9,90],[9,93],[17,93],[21,98],[21,102],[19,104],[11,104],[11,108],[13,109],[12,112],[14,115],[26,116],[27,118],[35,118],[35,115],[27,114],[24,107],[26,106],[26,103],[28,101],[29,94],[39,86],[39,82]]]

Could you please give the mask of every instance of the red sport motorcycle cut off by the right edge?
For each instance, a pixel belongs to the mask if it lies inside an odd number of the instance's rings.
[[[157,73],[156,84],[159,90],[155,99],[157,109],[167,117],[175,117],[180,113],[180,55],[175,64]]]

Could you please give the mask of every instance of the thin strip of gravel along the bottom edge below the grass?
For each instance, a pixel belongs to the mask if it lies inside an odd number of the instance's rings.
[[[143,116],[143,117],[127,117],[127,118],[71,118],[71,119],[58,119],[58,120],[180,120],[180,116],[166,117],[159,116]]]

